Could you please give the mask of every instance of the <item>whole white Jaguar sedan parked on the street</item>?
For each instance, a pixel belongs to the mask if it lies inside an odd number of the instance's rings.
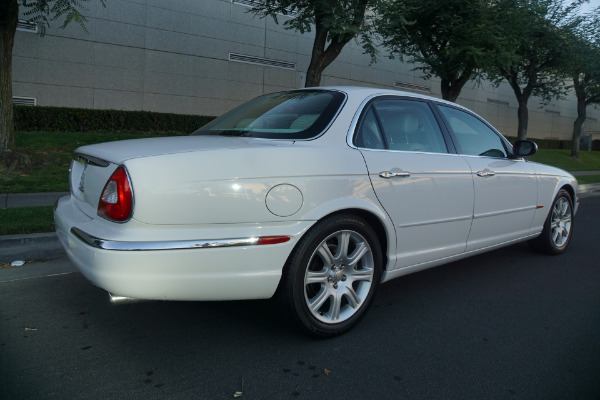
[[[454,103],[329,87],[258,97],[191,136],[76,150],[55,207],[69,257],[117,296],[275,296],[340,334],[380,283],[528,240],[562,253],[577,182]]]

